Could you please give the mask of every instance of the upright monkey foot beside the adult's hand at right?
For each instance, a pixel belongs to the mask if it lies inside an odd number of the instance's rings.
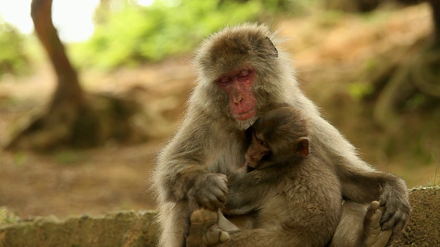
[[[380,226],[380,218],[382,211],[379,209],[380,204],[377,201],[371,202],[366,211],[364,220],[364,232],[366,233],[365,244],[368,247],[384,247],[393,233],[393,229],[382,231]]]

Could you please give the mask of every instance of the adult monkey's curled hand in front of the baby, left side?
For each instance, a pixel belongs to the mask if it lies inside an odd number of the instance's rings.
[[[200,208],[223,209],[228,196],[228,179],[224,174],[203,174],[188,191],[190,203]]]

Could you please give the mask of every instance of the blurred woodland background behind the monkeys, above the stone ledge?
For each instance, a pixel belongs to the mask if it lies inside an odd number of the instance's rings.
[[[194,86],[192,50],[245,21],[280,30],[303,89],[366,161],[439,185],[434,1],[54,0],[52,20],[34,1],[61,46],[34,34],[30,0],[0,0],[0,207],[154,209],[148,176]]]

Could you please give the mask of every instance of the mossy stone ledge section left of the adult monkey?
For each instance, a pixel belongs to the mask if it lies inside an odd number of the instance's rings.
[[[154,211],[124,211],[67,220],[39,217],[0,225],[0,246],[155,246]]]

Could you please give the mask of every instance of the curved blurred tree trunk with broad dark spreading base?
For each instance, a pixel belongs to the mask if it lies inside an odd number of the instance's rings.
[[[31,16],[36,35],[56,73],[56,90],[47,111],[17,134],[6,148],[87,148],[101,145],[108,139],[144,139],[131,124],[131,118],[140,108],[136,102],[109,95],[86,97],[52,23],[52,0],[33,0]]]

